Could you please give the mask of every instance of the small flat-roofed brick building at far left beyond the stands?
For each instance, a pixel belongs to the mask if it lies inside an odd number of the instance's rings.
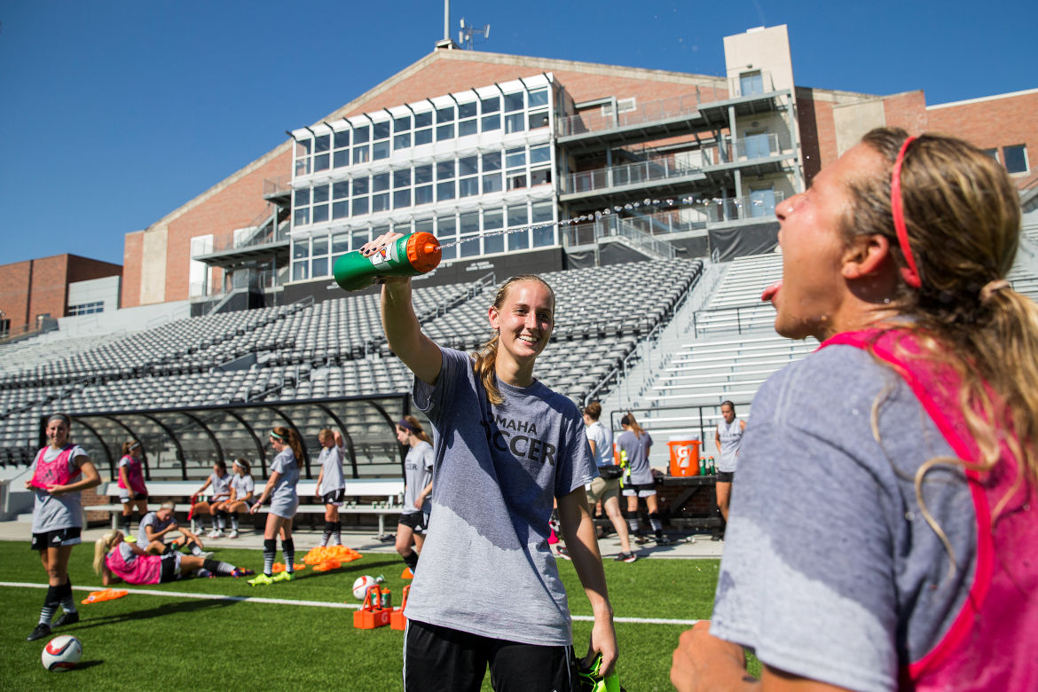
[[[42,323],[119,307],[122,268],[74,254],[0,266],[0,336]]]

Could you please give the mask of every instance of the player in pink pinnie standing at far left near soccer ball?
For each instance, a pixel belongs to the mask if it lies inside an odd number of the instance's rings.
[[[64,612],[54,627],[79,621],[76,600],[69,579],[69,557],[72,547],[81,543],[83,505],[80,493],[101,482],[101,474],[83,448],[69,442],[72,419],[55,413],[47,419],[48,445],[36,453],[25,481],[26,490],[35,491],[32,506],[32,550],[47,573],[47,596],[39,611],[39,622],[27,641],[42,639],[51,633],[51,618],[60,605]]]

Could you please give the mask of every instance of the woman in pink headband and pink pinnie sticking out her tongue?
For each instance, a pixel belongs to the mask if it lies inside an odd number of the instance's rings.
[[[1005,279],[1012,182],[879,129],[775,212],[775,331],[822,345],[754,400],[712,621],[672,681],[1035,689],[1038,306]]]

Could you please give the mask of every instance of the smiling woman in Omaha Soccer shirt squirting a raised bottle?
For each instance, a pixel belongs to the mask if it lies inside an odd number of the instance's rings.
[[[496,336],[473,358],[421,333],[410,278],[381,280],[389,347],[414,372],[436,443],[436,521],[407,606],[405,689],[479,690],[488,664],[497,689],[568,689],[569,608],[548,548],[553,498],[595,614],[590,649],[611,670],[612,608],[583,490],[595,463],[576,407],[534,378],[553,326],[551,288],[532,275],[506,281],[488,310]]]

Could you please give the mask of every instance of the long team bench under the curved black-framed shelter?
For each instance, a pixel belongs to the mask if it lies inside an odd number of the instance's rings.
[[[206,482],[204,480],[153,480],[147,483],[148,508],[155,509],[159,503],[165,500],[175,502],[174,511],[187,513],[191,509],[190,500],[193,495]],[[256,482],[256,495],[263,492],[264,483]],[[317,492],[317,481],[302,480],[296,486],[299,494],[299,508],[297,515],[323,515],[325,506],[319,502],[315,496]],[[404,494],[404,480],[402,478],[347,478],[346,479],[346,504],[338,508],[340,515],[375,515],[379,518],[379,535],[385,535],[385,518],[387,515],[397,516],[403,509],[401,502]],[[83,507],[87,511],[108,511],[111,515],[112,528],[118,528],[119,516],[122,514],[122,504],[118,502],[119,487],[115,481],[108,481],[98,489],[99,496],[115,498],[116,501],[108,504],[97,504]],[[380,499],[375,499],[380,498]],[[385,499],[381,499],[385,498]],[[270,508],[270,501],[260,508],[267,511]]]

